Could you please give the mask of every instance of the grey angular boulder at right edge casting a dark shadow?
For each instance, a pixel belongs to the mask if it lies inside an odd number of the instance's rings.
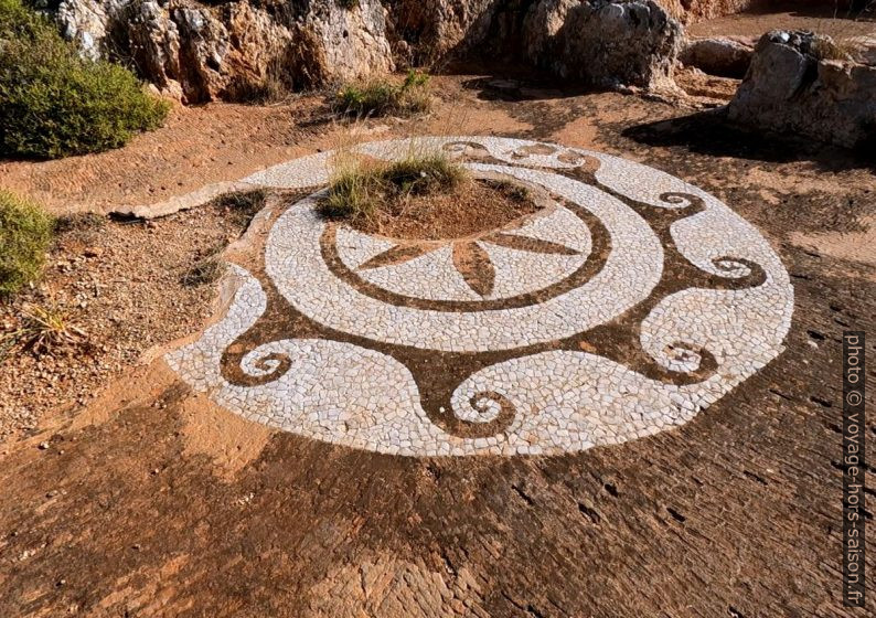
[[[758,42],[729,118],[850,148],[876,146],[876,66],[827,36],[773,31]]]

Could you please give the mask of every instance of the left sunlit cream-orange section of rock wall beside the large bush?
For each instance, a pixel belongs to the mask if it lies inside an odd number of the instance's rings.
[[[394,68],[380,0],[227,2],[63,0],[57,19],[90,57],[121,55],[184,100],[203,102],[270,73],[309,87]]]

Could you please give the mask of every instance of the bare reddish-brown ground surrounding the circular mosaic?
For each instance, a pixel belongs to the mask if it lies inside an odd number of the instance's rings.
[[[245,422],[160,360],[227,302],[179,277],[238,237],[234,213],[62,237],[45,286],[98,349],[57,361],[61,377],[56,361],[0,365],[0,616],[867,615],[840,596],[838,366],[842,331],[876,327],[876,162],[719,113],[494,77],[437,78],[429,118],[356,131],[555,141],[709,191],[791,275],[786,351],[687,425],[624,445],[391,457]],[[332,148],[349,129],[322,116],[316,98],[177,110],[121,151],[3,163],[0,182],[58,213],[160,202]]]

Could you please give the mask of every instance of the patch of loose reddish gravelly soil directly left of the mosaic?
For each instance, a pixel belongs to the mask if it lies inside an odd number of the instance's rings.
[[[0,338],[26,323],[28,307],[66,316],[82,341],[0,359],[0,443],[36,430],[49,411],[87,405],[148,349],[184,337],[210,315],[214,286],[186,274],[236,238],[246,217],[211,206],[149,223],[103,217],[63,232],[41,284],[0,302]],[[7,339],[8,340],[8,339]]]

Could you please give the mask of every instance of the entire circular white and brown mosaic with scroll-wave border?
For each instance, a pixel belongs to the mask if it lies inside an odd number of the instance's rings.
[[[264,268],[170,353],[252,420],[408,456],[559,454],[681,425],[782,350],[793,290],[714,196],[616,157],[517,139],[419,138],[538,210],[462,238],[327,221],[331,152],[245,179],[311,189],[276,217]],[[357,147],[385,160],[409,140]]]

